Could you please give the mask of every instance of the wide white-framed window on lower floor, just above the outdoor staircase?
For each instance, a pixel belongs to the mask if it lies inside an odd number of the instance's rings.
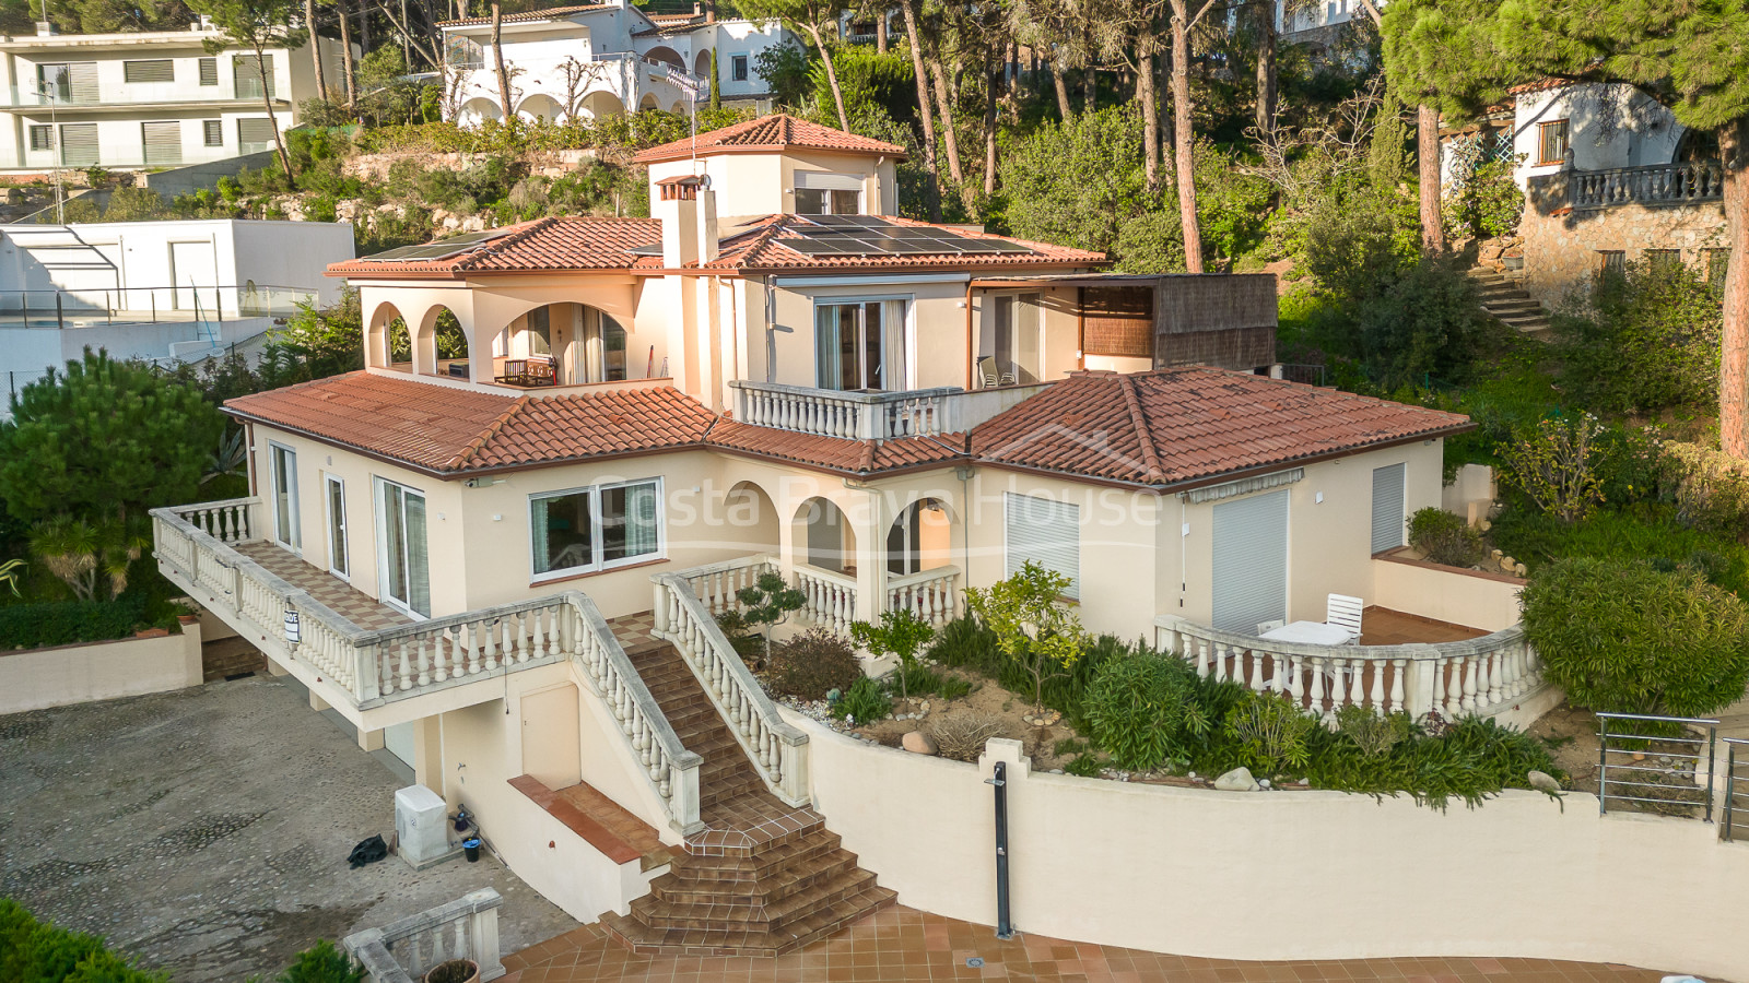
[[[568,577],[665,556],[661,486],[661,478],[645,478],[530,495],[533,577]]]

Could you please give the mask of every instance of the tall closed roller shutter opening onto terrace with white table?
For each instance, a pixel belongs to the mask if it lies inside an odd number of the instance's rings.
[[[1251,635],[1287,619],[1287,492],[1214,507],[1214,626]]]

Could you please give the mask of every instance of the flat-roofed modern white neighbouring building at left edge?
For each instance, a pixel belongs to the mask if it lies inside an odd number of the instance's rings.
[[[198,360],[248,343],[299,301],[332,303],[322,271],[352,255],[345,222],[0,226],[0,413],[86,346]]]

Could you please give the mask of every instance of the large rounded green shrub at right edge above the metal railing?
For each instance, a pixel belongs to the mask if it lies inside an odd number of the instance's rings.
[[[1693,572],[1551,563],[1523,589],[1523,626],[1579,707],[1704,717],[1749,684],[1749,609]]]

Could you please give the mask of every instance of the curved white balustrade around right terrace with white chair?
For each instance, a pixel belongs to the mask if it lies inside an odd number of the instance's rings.
[[[1466,642],[1418,645],[1277,642],[1172,614],[1156,617],[1154,626],[1158,647],[1193,661],[1198,675],[1286,693],[1326,719],[1348,705],[1415,719],[1431,712],[1490,717],[1544,684],[1543,661],[1518,624]]]

